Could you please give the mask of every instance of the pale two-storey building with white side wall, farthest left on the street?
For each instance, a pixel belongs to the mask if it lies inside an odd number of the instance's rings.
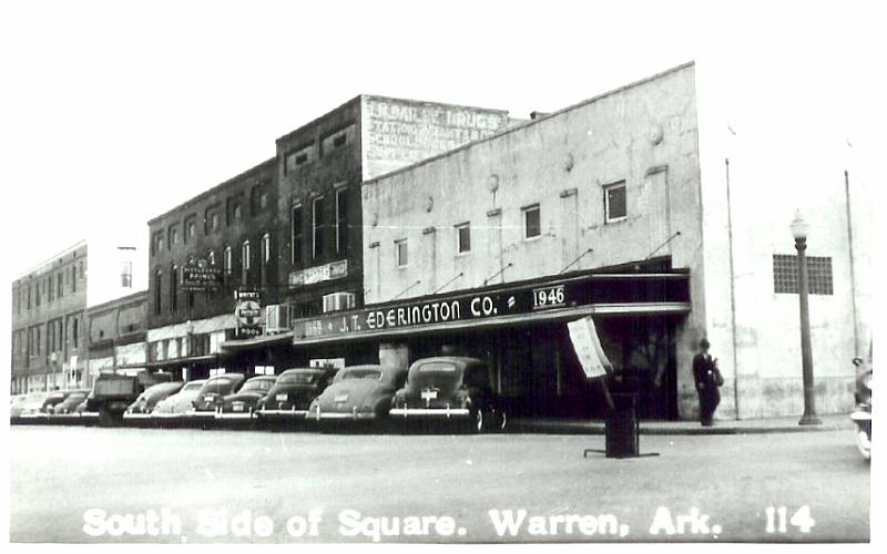
[[[93,350],[93,308],[146,288],[137,238],[94,237],[73,244],[12,283],[12,393],[89,388],[104,366]],[[131,325],[144,325],[141,312]],[[141,321],[140,321],[141,318]],[[110,338],[110,335],[109,335]],[[128,341],[144,352],[137,332]],[[104,339],[104,336],[100,337]],[[111,349],[113,351],[113,348]],[[109,355],[112,356],[112,355]]]

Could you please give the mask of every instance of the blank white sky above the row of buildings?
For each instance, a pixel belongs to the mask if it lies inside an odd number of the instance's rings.
[[[4,281],[94,233],[146,237],[361,92],[526,117],[708,59],[748,75],[737,125],[768,89],[785,122],[875,151],[876,4],[712,3],[4,2]]]

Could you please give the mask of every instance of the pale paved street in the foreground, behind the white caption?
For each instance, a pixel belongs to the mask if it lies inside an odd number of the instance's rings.
[[[845,431],[642,437],[642,451],[660,455],[634,460],[583,459],[583,449],[603,449],[603,437],[553,434],[13,427],[9,447],[13,542],[869,535],[869,465]],[[807,533],[798,529],[809,523],[798,512],[805,505],[813,520]],[[323,512],[309,517],[312,510]],[[520,510],[527,513],[517,525]],[[144,525],[125,527],[122,514],[144,514]],[[686,534],[677,534],[679,516],[691,514]],[[651,526],[659,533],[651,534]],[[112,535],[128,529],[166,534]],[[246,532],[252,535],[232,535]]]

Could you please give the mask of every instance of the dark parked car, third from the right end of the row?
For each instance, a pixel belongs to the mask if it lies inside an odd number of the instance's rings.
[[[304,420],[310,403],[335,375],[335,368],[287,369],[277,377],[267,396],[259,400],[256,416],[261,421]]]

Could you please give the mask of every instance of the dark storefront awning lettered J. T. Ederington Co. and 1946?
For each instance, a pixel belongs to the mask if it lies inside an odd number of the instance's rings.
[[[690,274],[587,273],[305,318],[294,346],[532,325],[588,315],[689,314]]]

